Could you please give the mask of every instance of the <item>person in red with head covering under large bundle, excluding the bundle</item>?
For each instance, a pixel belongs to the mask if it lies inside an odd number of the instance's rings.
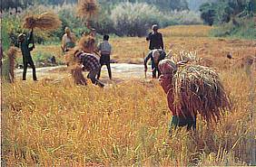
[[[172,111],[172,122],[169,126],[169,133],[172,134],[172,128],[176,129],[178,126],[187,126],[187,129],[196,128],[196,114],[192,114],[185,107],[174,106],[174,94],[172,86],[172,77],[177,70],[178,63],[173,60],[165,59],[159,62],[159,70],[162,75],[159,78],[160,84],[167,94],[168,107]]]

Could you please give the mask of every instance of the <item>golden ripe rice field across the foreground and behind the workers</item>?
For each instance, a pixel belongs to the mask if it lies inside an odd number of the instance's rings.
[[[78,87],[69,78],[61,82],[51,79],[35,83],[29,80],[14,84],[4,82],[1,92],[2,165],[250,164],[251,148],[256,139],[253,136],[256,123],[250,119],[251,111],[255,112],[252,103],[256,100],[256,89],[252,84],[255,82],[244,69],[225,69],[223,60],[226,60],[224,53],[228,50],[233,51],[236,59],[241,55],[255,55],[255,49],[251,47],[255,42],[184,38],[167,37],[165,40],[174,43],[173,51],[181,47],[190,50],[193,46],[204,49],[207,54],[203,51],[198,54],[206,57],[209,54],[212,66],[217,68],[222,85],[231,98],[232,108],[224,111],[220,122],[207,125],[198,116],[196,132],[179,129],[172,136],[168,135],[172,115],[166,95],[156,79],[126,79],[107,88],[92,84]],[[140,63],[142,56],[135,55],[147,51],[144,39],[117,40],[113,42],[113,57]],[[37,51],[46,48],[39,46]],[[254,74],[252,71],[251,76]]]

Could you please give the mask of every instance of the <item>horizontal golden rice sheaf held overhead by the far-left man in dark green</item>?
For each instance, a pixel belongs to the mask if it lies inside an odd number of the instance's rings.
[[[40,30],[55,30],[61,26],[59,17],[53,13],[33,14],[25,17],[24,28],[38,28]]]

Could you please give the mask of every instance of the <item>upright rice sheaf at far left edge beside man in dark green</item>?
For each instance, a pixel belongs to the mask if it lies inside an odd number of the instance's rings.
[[[11,46],[3,60],[3,77],[10,83],[15,81],[15,55],[18,48]]]

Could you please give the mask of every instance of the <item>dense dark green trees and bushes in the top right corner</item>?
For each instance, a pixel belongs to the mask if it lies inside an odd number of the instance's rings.
[[[255,0],[218,0],[202,4],[200,11],[204,23],[219,25],[212,31],[213,36],[256,39]]]

